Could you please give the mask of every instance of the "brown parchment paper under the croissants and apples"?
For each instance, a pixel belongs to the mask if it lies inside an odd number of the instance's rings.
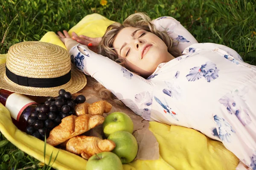
[[[95,81],[92,77],[86,76],[87,78],[87,85],[76,94],[73,94],[73,98],[76,98],[76,96],[82,94],[86,97],[87,103],[93,103],[97,102],[99,100],[102,100],[99,98],[96,94],[96,92],[92,88],[92,83]],[[45,101],[44,97],[36,97],[31,96],[36,102],[41,103]],[[135,114],[131,109],[128,107],[121,107],[114,105],[112,101],[106,100],[107,102],[111,103],[112,109],[109,113],[104,113],[103,116],[108,116],[108,114],[121,111],[126,113],[128,116],[131,117],[133,123],[134,123],[134,132],[133,135],[135,136],[137,142],[138,142],[138,153],[137,157],[134,160],[140,159],[140,160],[156,160],[159,159],[159,144],[157,142],[157,139],[155,138],[154,134],[148,129],[149,122],[142,117]],[[86,132],[84,135],[86,136],[96,136],[99,138],[102,138],[104,135],[102,130],[102,125],[99,125],[97,127],[94,127],[93,129]]]

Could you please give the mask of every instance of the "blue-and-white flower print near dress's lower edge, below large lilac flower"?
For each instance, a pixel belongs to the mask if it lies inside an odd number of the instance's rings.
[[[233,127],[231,127],[231,125],[223,118],[215,115],[213,116],[214,117],[214,121],[216,122],[217,124],[217,127],[218,127],[218,135],[220,137],[220,139],[223,141],[223,142],[231,142],[231,139],[230,139],[230,136],[233,134],[233,133],[236,133],[235,130],[233,130]]]

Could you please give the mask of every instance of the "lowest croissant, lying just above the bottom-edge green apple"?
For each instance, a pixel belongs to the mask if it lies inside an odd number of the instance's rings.
[[[95,153],[111,151],[116,147],[115,142],[108,139],[99,139],[95,136],[76,136],[67,142],[66,150],[84,159],[89,159]]]

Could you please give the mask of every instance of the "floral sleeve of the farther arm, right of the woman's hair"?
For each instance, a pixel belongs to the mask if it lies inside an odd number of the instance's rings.
[[[181,52],[189,45],[198,43],[195,37],[173,17],[160,17],[152,20],[152,23],[157,30],[167,31],[173,40],[174,47],[177,47]]]

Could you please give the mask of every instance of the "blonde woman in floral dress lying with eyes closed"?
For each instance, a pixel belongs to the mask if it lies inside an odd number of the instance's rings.
[[[256,170],[256,66],[236,51],[198,43],[172,17],[143,13],[113,23],[102,38],[58,35],[74,65],[132,111],[198,130]]]

